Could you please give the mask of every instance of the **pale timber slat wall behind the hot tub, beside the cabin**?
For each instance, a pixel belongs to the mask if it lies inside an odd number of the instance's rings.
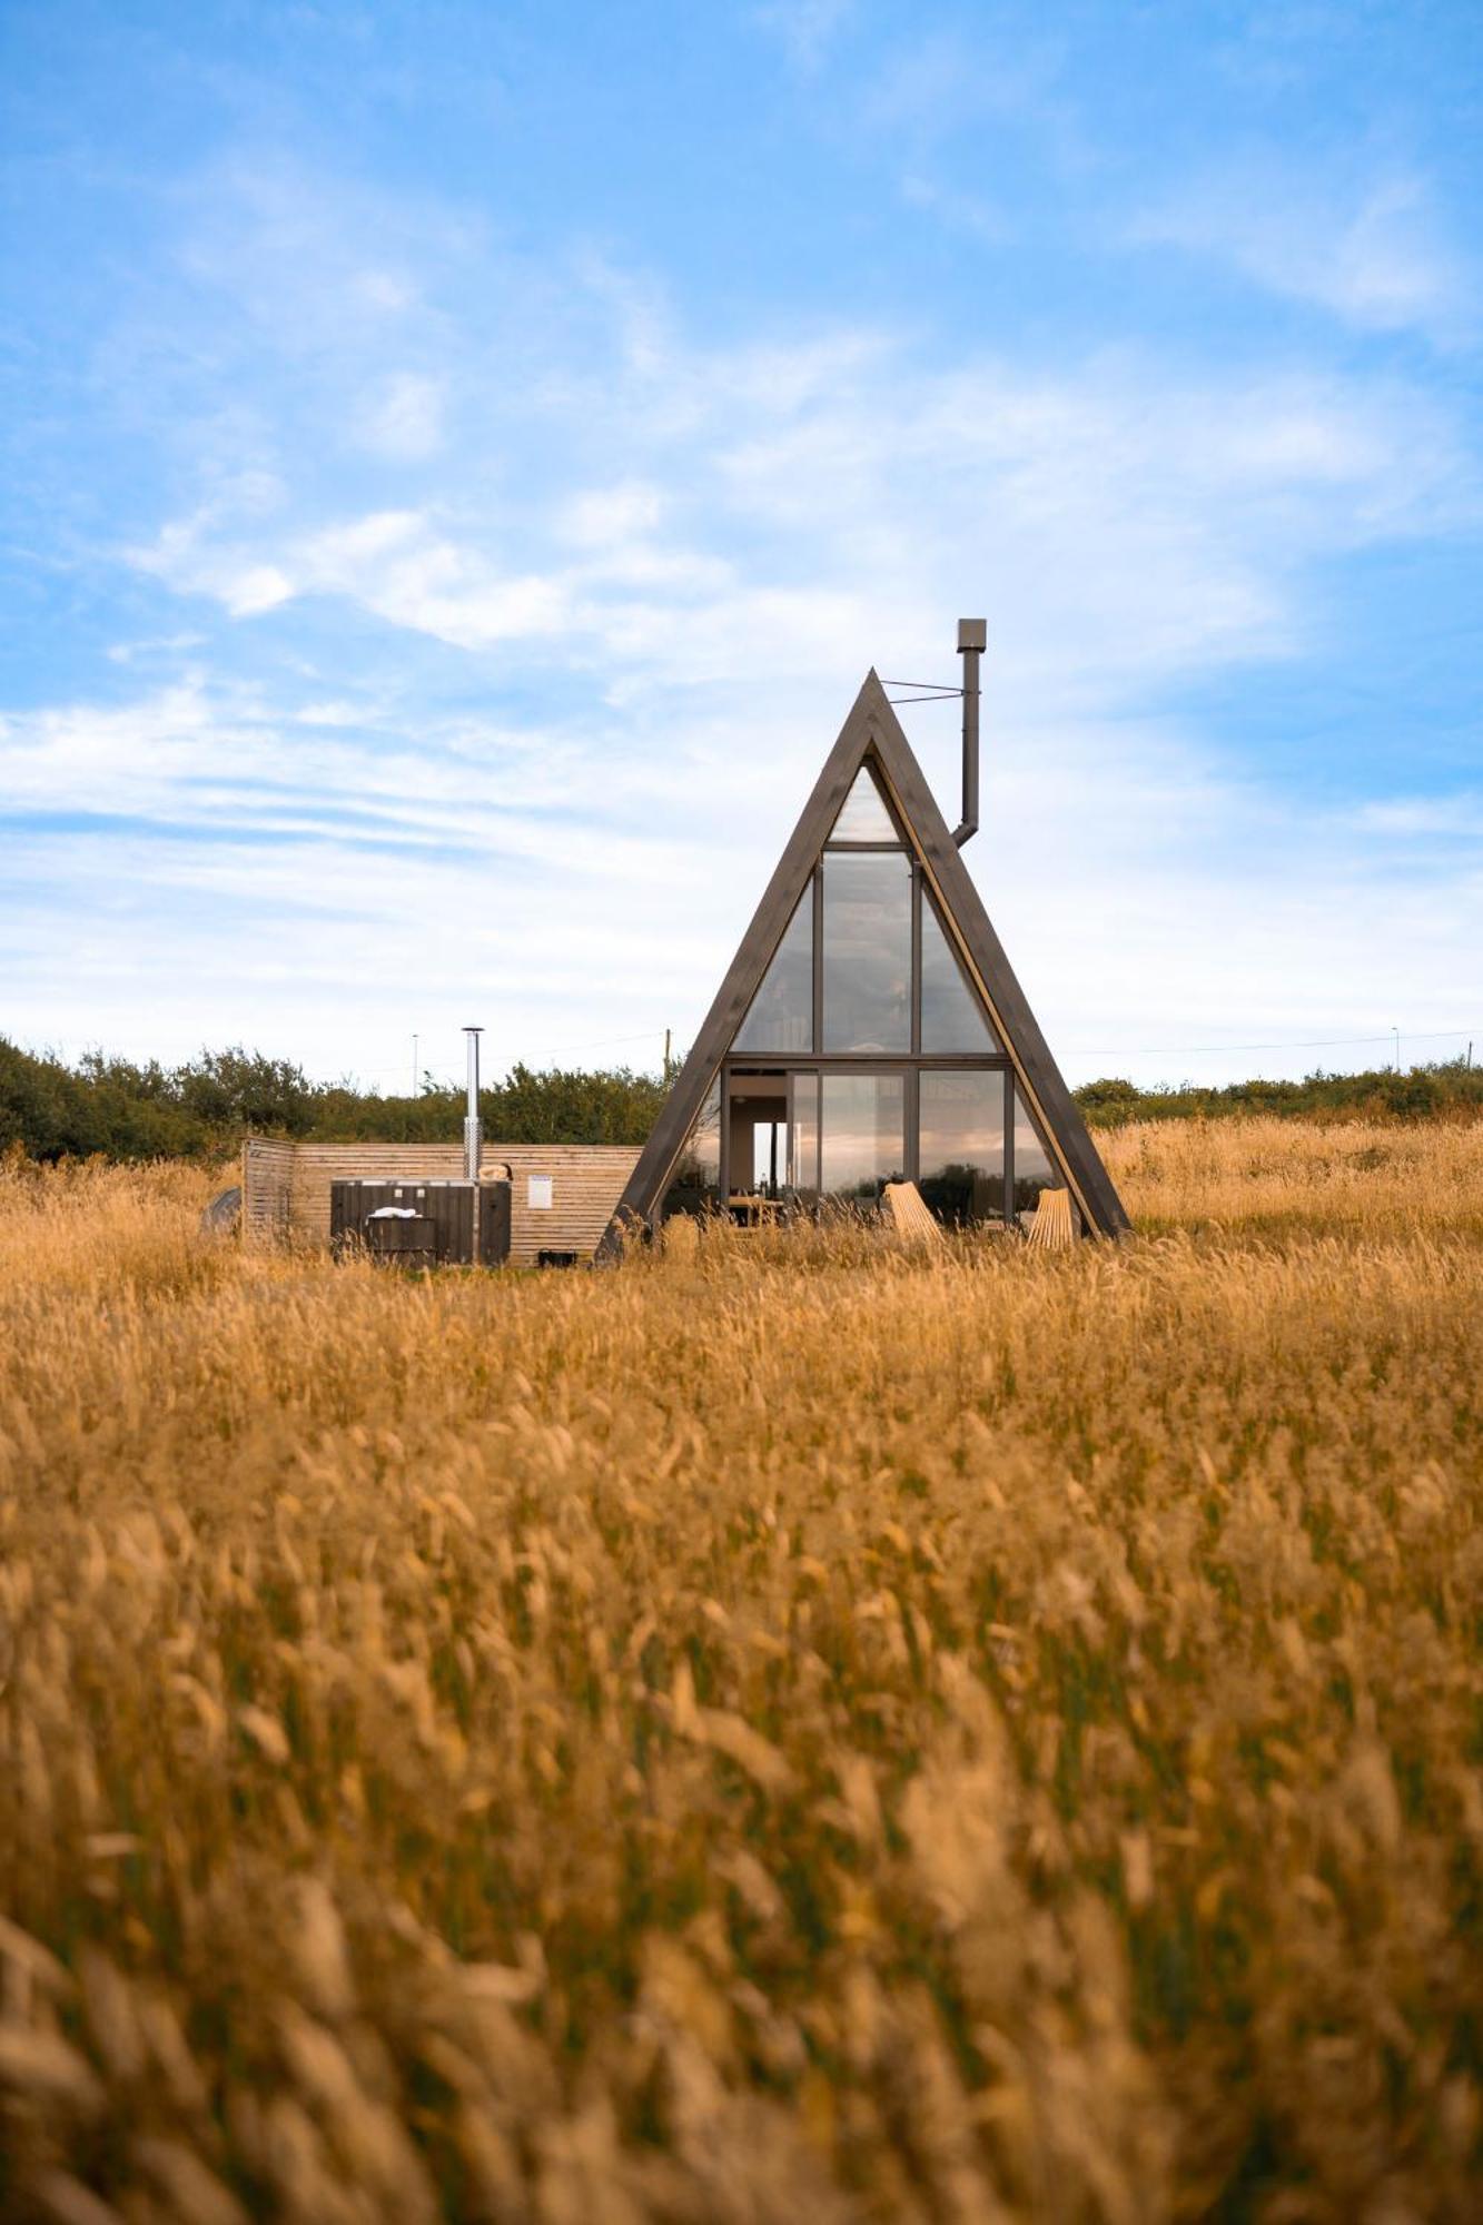
[[[512,1173],[510,1259],[541,1250],[597,1250],[637,1164],[632,1144],[485,1144],[481,1175]],[[249,1239],[296,1235],[330,1242],[332,1181],[459,1181],[461,1144],[243,1144],[243,1230]],[[528,1202],[532,1175],[550,1177],[550,1210]]]

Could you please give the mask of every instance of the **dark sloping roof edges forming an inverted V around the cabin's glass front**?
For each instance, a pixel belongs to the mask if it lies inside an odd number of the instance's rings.
[[[1051,1146],[1053,1159],[1060,1164],[1060,1173],[1087,1226],[1102,1235],[1127,1233],[1129,1219],[1122,1210],[1122,1199],[1098,1157],[1096,1144],[1087,1135],[1087,1124],[1060,1077],[1060,1068],[1035,1024],[1024,990],[1004,957],[1004,946],[989,923],[962,852],[953,843],[946,821],[926,785],[926,777],[906,741],[902,721],[895,716],[886,690],[871,668],[855,696],[855,708],[813,783],[813,794],[788,837],[788,846],[753,914],[753,923],[742,937],[742,948],[730,961],[715,1003],[706,1012],[690,1057],[681,1066],[652,1135],[639,1155],[639,1164],[603,1237],[603,1250],[612,1248],[626,1222],[648,1222],[659,1206],[690,1128],[701,1112],[706,1090],[715,1081],[721,1059],[733,1048],[735,1035],[808,886],[808,877],[819,861],[855,774],[866,761],[873,761],[875,777],[902,823],[906,841],[915,848],[926,870],[944,926],[960,948],[960,957],[1004,1044],[1024,1099]]]

